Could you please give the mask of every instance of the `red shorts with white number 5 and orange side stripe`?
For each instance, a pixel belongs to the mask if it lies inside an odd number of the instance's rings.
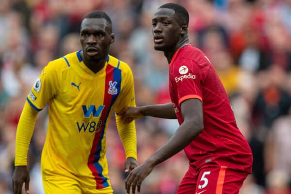
[[[248,173],[213,165],[189,167],[176,194],[239,194]]]

